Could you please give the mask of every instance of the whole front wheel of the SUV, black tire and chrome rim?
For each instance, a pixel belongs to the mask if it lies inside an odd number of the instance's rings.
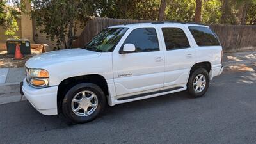
[[[63,114],[73,123],[90,122],[97,118],[106,105],[106,97],[99,86],[80,83],[68,90],[63,103]]]

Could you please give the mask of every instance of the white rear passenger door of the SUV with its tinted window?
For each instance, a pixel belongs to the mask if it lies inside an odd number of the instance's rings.
[[[164,87],[186,86],[191,66],[195,63],[195,49],[184,26],[161,25],[165,69]]]

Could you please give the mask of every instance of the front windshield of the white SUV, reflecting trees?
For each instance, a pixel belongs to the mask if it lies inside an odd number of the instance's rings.
[[[84,49],[98,52],[110,52],[119,42],[128,28],[106,28],[103,29]]]

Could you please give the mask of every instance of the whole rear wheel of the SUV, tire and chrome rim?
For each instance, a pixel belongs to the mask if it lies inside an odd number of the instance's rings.
[[[198,68],[189,77],[188,92],[193,97],[202,97],[209,87],[209,74],[204,68]]]

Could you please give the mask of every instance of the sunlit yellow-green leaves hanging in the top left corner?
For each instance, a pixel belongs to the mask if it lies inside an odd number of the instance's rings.
[[[20,17],[16,6],[8,6],[9,1],[0,1],[0,25],[4,26],[5,35],[17,38],[15,33],[19,30],[17,19]]]

